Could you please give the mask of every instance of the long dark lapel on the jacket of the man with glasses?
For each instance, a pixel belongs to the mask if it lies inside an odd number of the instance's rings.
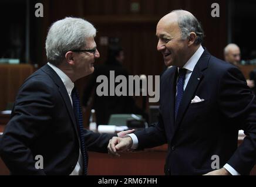
[[[75,113],[73,112],[72,104],[70,102],[70,98],[69,98],[69,95],[68,95],[65,85],[63,84],[59,75],[56,74],[56,72],[48,64],[46,64],[42,67],[42,71],[46,72],[46,74],[48,74],[53,79],[55,84],[59,87],[60,95],[62,96],[62,99],[65,102],[66,108],[68,109],[68,112],[69,112],[69,116],[73,122],[73,126],[75,127],[76,135],[79,138],[78,127],[76,125]]]

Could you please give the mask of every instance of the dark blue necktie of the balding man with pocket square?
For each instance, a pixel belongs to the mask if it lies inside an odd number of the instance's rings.
[[[175,120],[177,118],[178,107],[180,106],[180,102],[184,93],[183,87],[184,87],[186,71],[187,70],[184,68],[180,68],[180,70],[178,70],[177,95],[175,99]]]

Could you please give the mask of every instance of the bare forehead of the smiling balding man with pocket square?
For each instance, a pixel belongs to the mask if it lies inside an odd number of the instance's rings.
[[[178,22],[170,22],[167,20],[160,20],[157,23],[156,27],[156,36],[157,37],[172,37],[180,34],[180,27],[178,26]]]

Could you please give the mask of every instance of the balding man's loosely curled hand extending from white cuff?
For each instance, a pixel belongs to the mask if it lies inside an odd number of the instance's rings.
[[[107,146],[107,150],[109,150],[110,155],[114,155],[120,157],[120,154],[117,151],[128,150],[132,147],[133,141],[131,137],[113,137],[109,140],[109,145]]]

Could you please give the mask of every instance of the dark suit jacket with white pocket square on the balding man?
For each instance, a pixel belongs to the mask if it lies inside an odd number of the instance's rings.
[[[177,67],[161,76],[159,122],[135,133],[138,148],[168,143],[167,175],[206,174],[213,170],[213,155],[220,158],[220,168],[228,163],[240,174],[248,174],[256,159],[256,105],[240,70],[205,50],[174,122],[176,80]],[[204,101],[191,103],[195,96]],[[240,129],[247,137],[237,149]]]

